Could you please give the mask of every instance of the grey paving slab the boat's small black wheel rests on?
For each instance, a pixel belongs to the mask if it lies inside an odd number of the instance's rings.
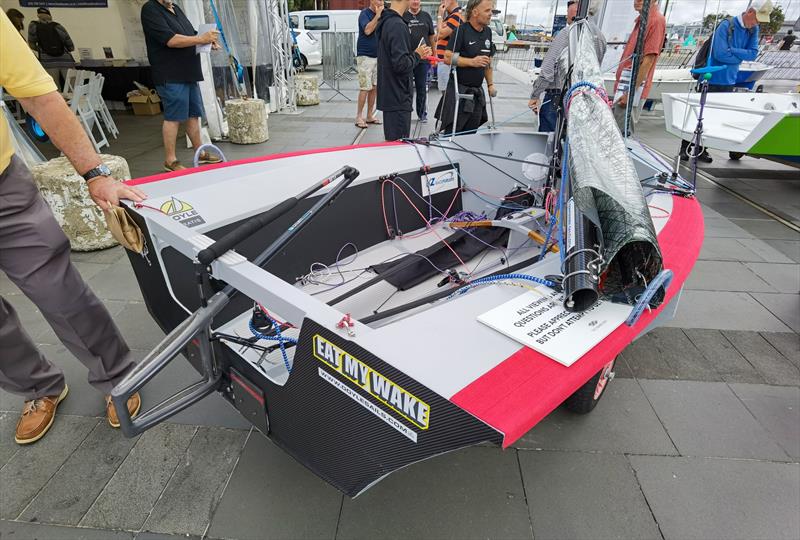
[[[514,443],[516,448],[677,454],[635,380],[613,380],[590,414],[550,413]]]

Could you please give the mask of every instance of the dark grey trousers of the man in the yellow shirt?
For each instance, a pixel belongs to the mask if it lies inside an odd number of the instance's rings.
[[[133,361],[111,315],[70,262],[69,252],[69,240],[30,171],[13,157],[0,173],[0,270],[89,368],[89,382],[108,394]],[[0,297],[0,388],[30,400],[56,396],[64,384],[61,368],[45,359],[14,308]]]

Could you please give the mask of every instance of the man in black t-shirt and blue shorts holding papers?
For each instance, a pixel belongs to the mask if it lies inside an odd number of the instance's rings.
[[[197,35],[192,23],[172,0],[150,0],[142,6],[142,30],[147,45],[147,59],[153,73],[161,102],[164,104],[164,169],[185,169],[175,155],[178,127],[186,122],[186,134],[192,146],[203,144],[200,138],[200,118],[203,100],[198,81],[203,80],[197,45],[211,44],[219,49],[219,32],[210,30]],[[209,152],[200,154],[200,163],[219,163],[219,156]]]

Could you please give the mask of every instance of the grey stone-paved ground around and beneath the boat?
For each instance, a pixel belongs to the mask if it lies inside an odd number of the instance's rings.
[[[530,125],[525,89],[503,83],[500,93],[498,123]],[[223,148],[237,158],[349,144],[359,134],[353,109],[337,96],[273,115],[268,143]],[[160,117],[118,123],[111,151],[134,176],[158,172]],[[665,153],[677,148],[658,117],[639,133]],[[371,127],[361,142],[381,139]],[[356,500],[217,397],[121,437],[83,366],[0,277],[0,294],[72,390],[52,432],[25,448],[11,437],[21,402],[0,392],[0,538],[800,537],[800,235],[725,189],[798,223],[800,180],[768,162],[717,157],[698,184],[706,238],[678,317],[624,352],[592,414],[556,410],[511,449],[432,459]],[[122,250],[73,259],[143,356],[162,334]],[[195,376],[186,363],[171,366],[145,403]]]

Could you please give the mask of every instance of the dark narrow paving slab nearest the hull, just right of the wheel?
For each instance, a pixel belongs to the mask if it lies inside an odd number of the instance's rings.
[[[680,328],[657,328],[630,344],[622,355],[638,378],[721,380]]]

